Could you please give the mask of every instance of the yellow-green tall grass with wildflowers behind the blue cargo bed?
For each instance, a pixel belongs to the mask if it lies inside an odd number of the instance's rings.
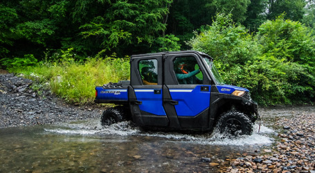
[[[65,56],[53,62],[39,62],[36,66],[14,69],[36,84],[48,84],[53,93],[67,102],[86,104],[93,102],[95,87],[129,79],[129,58],[93,57],[85,62],[75,62]]]

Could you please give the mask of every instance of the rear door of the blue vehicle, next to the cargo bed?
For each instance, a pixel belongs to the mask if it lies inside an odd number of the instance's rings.
[[[128,94],[132,118],[138,126],[168,126],[163,108],[162,65],[162,55],[132,57]]]

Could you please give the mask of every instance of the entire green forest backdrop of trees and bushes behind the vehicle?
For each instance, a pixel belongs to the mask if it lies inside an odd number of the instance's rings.
[[[3,0],[0,64],[24,73],[71,64],[84,73],[76,66],[95,58],[194,48],[215,57],[224,80],[249,88],[260,104],[309,103],[314,16],[314,0]],[[39,68],[44,62],[53,70]],[[129,74],[116,73],[113,81]]]

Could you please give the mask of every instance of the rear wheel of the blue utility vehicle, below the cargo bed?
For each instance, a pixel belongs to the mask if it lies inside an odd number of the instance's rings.
[[[105,109],[105,111],[102,113],[100,123],[103,126],[105,126],[112,125],[123,120],[124,120],[123,109],[121,107],[111,107],[109,109]]]

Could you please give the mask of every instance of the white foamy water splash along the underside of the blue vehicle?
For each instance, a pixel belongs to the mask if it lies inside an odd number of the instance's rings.
[[[87,120],[80,122],[61,123],[44,130],[57,134],[69,135],[99,135],[99,136],[148,136],[152,138],[164,138],[166,140],[181,141],[185,143],[198,143],[201,145],[268,145],[273,142],[270,134],[273,130],[263,125],[258,134],[258,125],[254,125],[251,136],[239,136],[237,138],[224,138],[222,134],[214,131],[212,134],[182,134],[178,132],[142,131],[133,122],[118,122],[102,127],[99,120]]]

